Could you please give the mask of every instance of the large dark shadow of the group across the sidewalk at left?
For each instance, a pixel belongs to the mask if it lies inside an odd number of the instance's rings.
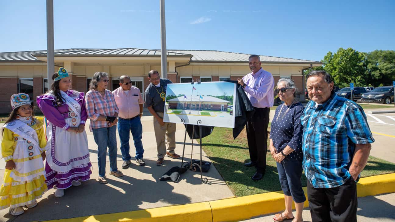
[[[120,162],[118,161],[118,165]],[[156,167],[153,160],[146,160],[146,163],[147,166]],[[175,163],[168,161],[166,164],[173,165]],[[107,162],[108,165],[109,162]],[[24,214],[17,217],[6,214],[4,219],[8,219],[9,222],[25,222],[78,216],[87,216],[88,218],[90,215],[157,207],[153,205],[154,203],[158,203],[160,206],[191,203],[190,197],[173,192],[176,184],[159,181],[164,172],[152,170],[152,167],[133,166],[132,168],[152,175],[154,181],[137,179],[130,175],[116,178],[109,175],[107,169],[108,184],[100,184],[95,178],[97,174],[93,173],[91,179],[83,182],[81,186],[71,186],[66,189],[62,198],[56,198],[54,196],[55,190],[51,189],[47,191],[47,196],[38,202],[37,207],[26,209]],[[97,165],[92,170],[97,171],[96,168]],[[169,167],[162,168],[165,171]],[[127,169],[122,169],[122,171],[124,174],[128,174]],[[188,183],[199,184],[198,178],[188,176],[187,180]],[[98,219],[97,216],[95,218]]]

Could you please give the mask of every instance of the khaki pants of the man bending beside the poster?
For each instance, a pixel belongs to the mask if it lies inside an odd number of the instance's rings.
[[[157,113],[158,116],[163,118],[163,113]],[[175,123],[165,122],[164,126],[160,126],[158,120],[154,118],[154,131],[156,138],[156,149],[158,150],[158,158],[164,158],[166,155],[165,135],[169,147],[167,151],[174,154],[175,149]]]

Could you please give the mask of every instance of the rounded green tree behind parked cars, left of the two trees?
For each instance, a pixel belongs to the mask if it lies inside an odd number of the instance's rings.
[[[366,54],[355,49],[339,48],[336,53],[328,52],[321,60],[324,70],[332,75],[333,82],[339,87],[367,85]]]

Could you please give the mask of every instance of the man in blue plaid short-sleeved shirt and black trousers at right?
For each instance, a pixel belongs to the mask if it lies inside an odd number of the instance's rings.
[[[356,184],[374,142],[366,115],[335,94],[325,71],[306,78],[302,148],[312,222],[356,222]]]

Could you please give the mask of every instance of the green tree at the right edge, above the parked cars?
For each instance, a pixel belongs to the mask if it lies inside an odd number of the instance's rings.
[[[395,80],[395,51],[375,50],[366,53],[366,75],[374,87],[392,85]]]

